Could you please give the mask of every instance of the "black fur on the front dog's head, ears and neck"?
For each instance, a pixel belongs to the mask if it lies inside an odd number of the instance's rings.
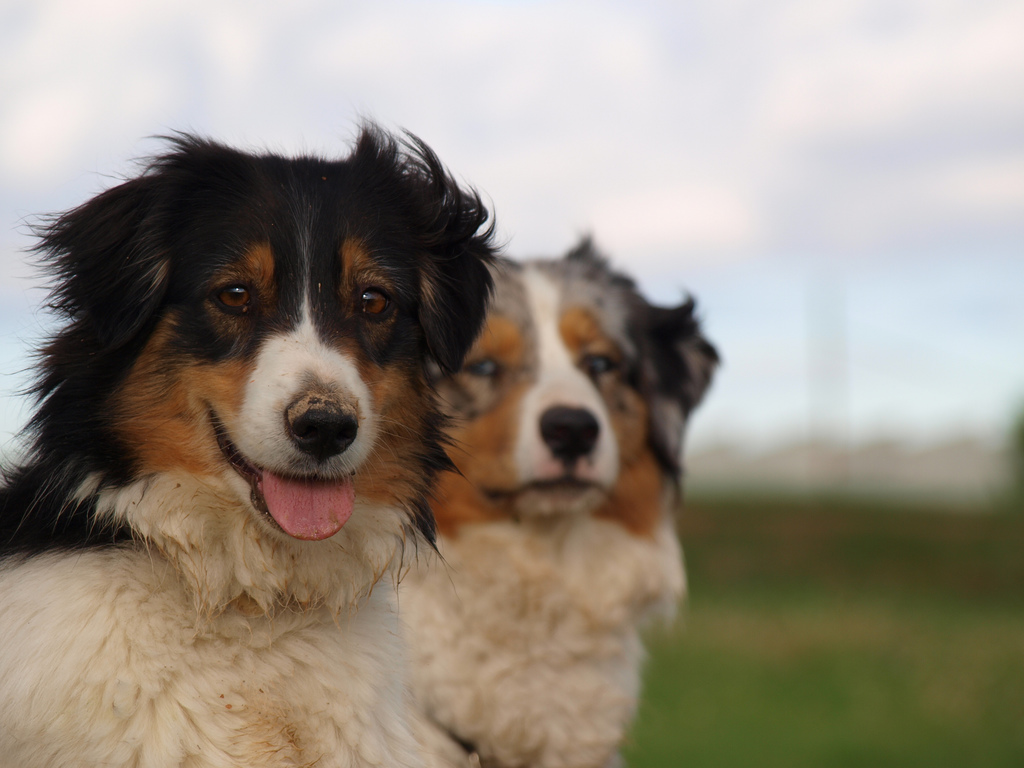
[[[278,273],[298,285],[295,274],[306,269],[317,286],[340,286],[338,249],[362,244],[395,287],[392,331],[367,330],[344,302],[331,303],[331,292],[314,310],[325,336],[354,338],[378,365],[416,368],[421,379],[430,361],[453,370],[482,324],[494,255],[488,212],[415,136],[402,141],[368,126],[340,161],[252,155],[185,134],[167,141],[139,176],[37,229],[62,327],[39,352],[28,458],[0,490],[0,556],[131,539],[124,526],[97,523],[94,494],[73,498],[90,475],[100,487],[136,478],[112,427],[111,393],[161,317],[175,317],[174,353],[200,360],[249,353],[297,321],[298,289],[239,338],[218,334],[196,311],[212,275],[255,242],[269,242]],[[431,414],[426,423],[417,454],[424,499],[450,467],[442,418]],[[410,513],[432,542],[424,499]]]

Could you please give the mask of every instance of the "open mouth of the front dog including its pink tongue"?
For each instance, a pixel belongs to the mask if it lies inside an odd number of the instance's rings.
[[[318,542],[341,530],[352,516],[355,487],[351,477],[322,480],[286,477],[260,469],[239,451],[227,429],[210,411],[210,422],[224,459],[246,479],[253,507],[294,539]]]

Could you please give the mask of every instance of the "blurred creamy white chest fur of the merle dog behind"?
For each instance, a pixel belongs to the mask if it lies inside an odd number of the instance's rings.
[[[654,540],[590,517],[467,525],[440,549],[446,568],[402,583],[428,716],[503,765],[613,765],[639,696],[639,627],[685,589],[671,522]]]

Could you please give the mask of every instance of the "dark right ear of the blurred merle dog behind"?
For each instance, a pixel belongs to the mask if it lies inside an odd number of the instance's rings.
[[[639,298],[639,297],[638,297]],[[700,333],[693,299],[658,307],[639,298],[635,331],[641,350],[640,388],[650,408],[655,455],[679,472],[686,419],[700,402],[719,362]]]

